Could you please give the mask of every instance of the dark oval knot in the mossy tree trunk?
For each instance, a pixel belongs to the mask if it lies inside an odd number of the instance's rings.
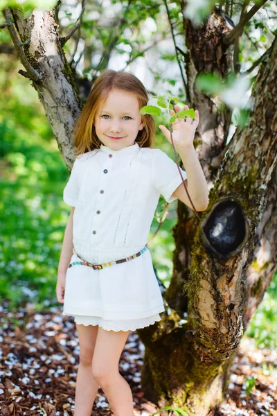
[[[248,234],[249,224],[245,211],[232,198],[217,202],[201,225],[206,250],[222,260],[238,254],[247,242]]]

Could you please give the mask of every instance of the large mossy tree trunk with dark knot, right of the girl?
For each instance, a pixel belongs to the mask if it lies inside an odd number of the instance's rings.
[[[178,203],[168,308],[161,322],[137,332],[147,397],[204,416],[226,393],[240,340],[276,270],[277,40],[253,86],[249,125],[226,145],[229,114],[218,116],[194,83],[202,71],[228,71],[227,28],[216,14],[197,33],[185,28],[188,98],[200,109],[197,154],[210,202],[201,223]]]

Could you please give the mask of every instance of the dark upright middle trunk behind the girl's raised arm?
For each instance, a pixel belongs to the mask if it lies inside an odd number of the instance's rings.
[[[226,139],[231,123],[231,111],[218,111],[217,98],[211,98],[195,87],[199,73],[213,72],[226,78],[231,71],[231,52],[233,46],[224,44],[224,36],[232,27],[220,12],[213,12],[206,24],[195,28],[190,21],[184,20],[184,35],[189,53],[186,54],[186,79],[188,84],[187,101],[190,107],[199,110],[199,126],[195,135],[195,148],[199,162],[208,182],[213,187],[218,167],[226,151]],[[187,301],[182,287],[188,279],[190,252],[197,222],[193,212],[183,204],[178,205],[178,223],[173,229],[176,250],[173,259],[173,275],[166,293],[168,304],[179,315],[187,310]],[[184,239],[185,236],[185,239]]]

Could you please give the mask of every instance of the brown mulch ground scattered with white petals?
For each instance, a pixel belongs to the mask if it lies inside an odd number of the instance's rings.
[[[0,306],[0,415],[73,416],[78,370],[78,334],[73,318],[61,307],[34,312],[31,306],[8,312]],[[120,374],[129,383],[134,414],[158,410],[143,397],[141,366],[144,345],[134,331],[120,358]],[[247,395],[247,379],[253,387]],[[175,413],[174,413],[175,414]],[[110,416],[109,404],[99,388],[93,415]],[[277,416],[277,352],[256,349],[243,338],[232,367],[229,392],[220,408],[209,416]]]

